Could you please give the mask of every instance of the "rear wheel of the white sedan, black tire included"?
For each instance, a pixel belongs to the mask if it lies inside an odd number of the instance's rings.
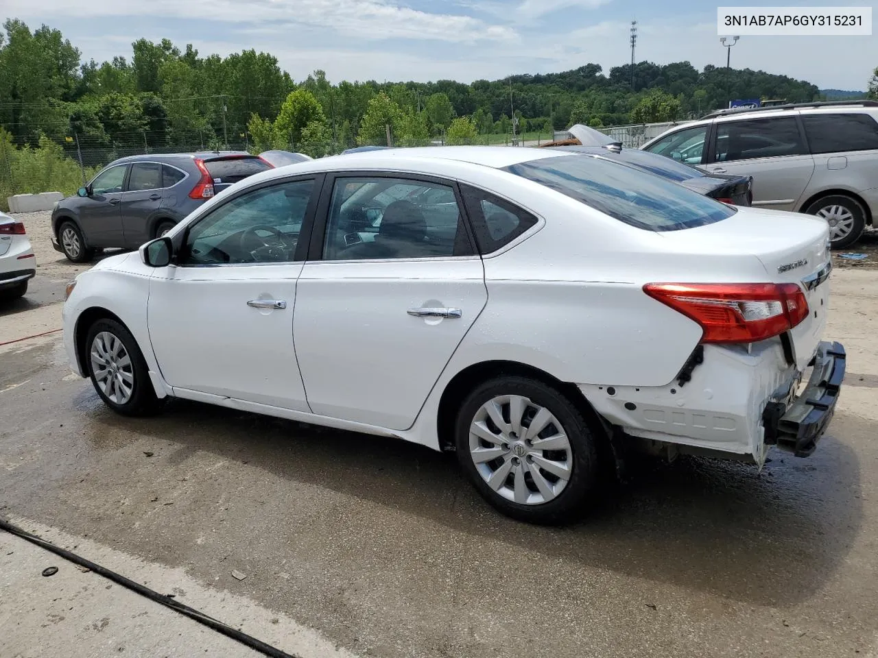
[[[466,397],[455,426],[457,459],[479,493],[513,519],[578,519],[597,483],[595,434],[557,388],[500,376]]]

